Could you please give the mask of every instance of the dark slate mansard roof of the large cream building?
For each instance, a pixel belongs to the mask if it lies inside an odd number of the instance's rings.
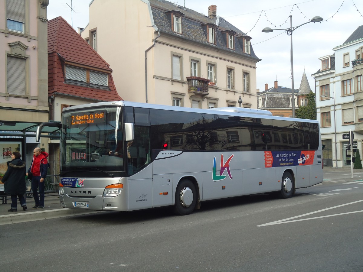
[[[204,46],[212,46],[216,49],[224,49],[228,51],[233,51],[234,53],[243,55],[247,58],[252,58],[254,61],[261,61],[253,51],[252,45],[250,46],[250,54],[243,52],[242,38],[247,36],[240,29],[236,28],[224,18],[216,16],[215,18],[209,18],[208,16],[193,11],[192,9],[182,7],[180,5],[171,3],[166,0],[149,0],[151,6],[152,19],[154,24],[160,32],[164,32],[170,35],[178,36],[180,38],[185,38],[191,41],[196,41],[204,44]],[[168,18],[167,11],[179,11],[184,15],[181,16],[181,29],[182,33],[175,33],[171,28],[171,21]],[[207,40],[207,34],[204,32],[203,24],[215,24],[216,25],[216,44],[211,44]],[[234,50],[227,48],[226,35],[221,33],[223,30],[232,30],[236,32],[234,40]]]

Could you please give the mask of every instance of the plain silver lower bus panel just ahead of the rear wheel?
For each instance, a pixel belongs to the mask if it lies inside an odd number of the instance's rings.
[[[274,167],[245,169],[243,170],[243,194],[248,195],[276,191],[277,180],[276,168]]]

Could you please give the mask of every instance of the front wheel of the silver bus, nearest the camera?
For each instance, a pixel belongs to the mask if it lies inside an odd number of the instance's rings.
[[[181,180],[176,187],[174,213],[191,214],[197,202],[194,184],[190,180]]]

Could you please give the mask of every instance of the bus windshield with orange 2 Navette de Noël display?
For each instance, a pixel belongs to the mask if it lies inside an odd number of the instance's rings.
[[[124,171],[121,107],[62,114],[61,171]]]

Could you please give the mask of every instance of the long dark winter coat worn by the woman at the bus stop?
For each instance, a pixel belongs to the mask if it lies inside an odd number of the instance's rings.
[[[8,161],[8,170],[6,170],[3,179],[5,194],[25,194],[25,162],[20,158]]]

